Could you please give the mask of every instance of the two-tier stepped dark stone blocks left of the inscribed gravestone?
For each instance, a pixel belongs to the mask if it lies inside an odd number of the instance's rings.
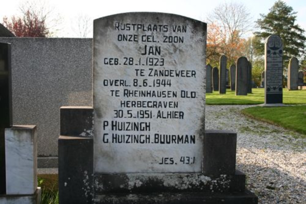
[[[61,136],[58,139],[59,203],[92,203],[93,108],[61,107],[60,119]]]

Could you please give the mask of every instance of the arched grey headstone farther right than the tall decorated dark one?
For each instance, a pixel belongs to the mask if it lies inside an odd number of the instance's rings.
[[[296,57],[291,57],[288,65],[288,90],[298,89],[298,73],[299,73],[299,61]]]

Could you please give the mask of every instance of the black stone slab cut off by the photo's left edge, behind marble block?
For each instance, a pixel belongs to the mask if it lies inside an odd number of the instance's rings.
[[[6,194],[5,128],[12,125],[11,49],[0,43],[0,195]]]

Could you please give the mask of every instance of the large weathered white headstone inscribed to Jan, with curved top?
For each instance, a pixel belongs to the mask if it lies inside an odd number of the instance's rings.
[[[94,169],[201,172],[206,24],[167,13],[94,20]]]

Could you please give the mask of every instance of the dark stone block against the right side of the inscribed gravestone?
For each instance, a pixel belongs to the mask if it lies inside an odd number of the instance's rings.
[[[236,171],[237,134],[231,131],[206,130],[204,136],[205,175],[234,175]]]

